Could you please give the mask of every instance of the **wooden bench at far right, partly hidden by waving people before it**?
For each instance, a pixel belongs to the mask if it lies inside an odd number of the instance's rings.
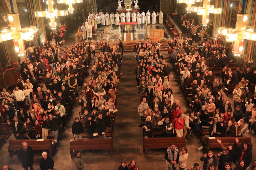
[[[234,143],[236,137],[215,137],[215,138],[209,138],[207,137],[206,140],[206,150],[208,151],[210,148],[220,148],[220,144],[216,141],[217,139],[221,140],[221,143],[224,146],[228,146],[229,143]],[[252,140],[251,137],[238,137],[239,142],[238,146],[241,145],[243,142],[247,142],[250,146],[252,146]]]

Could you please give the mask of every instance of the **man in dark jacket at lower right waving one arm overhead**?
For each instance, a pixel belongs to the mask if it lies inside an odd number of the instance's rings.
[[[237,161],[241,159],[244,160],[245,166],[248,167],[252,161],[252,147],[246,142],[243,142],[242,145],[237,146],[239,139],[236,138],[235,140],[236,142],[234,143],[234,147],[237,150]]]

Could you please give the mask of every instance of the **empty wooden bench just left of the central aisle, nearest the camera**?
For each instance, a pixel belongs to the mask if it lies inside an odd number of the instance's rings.
[[[88,149],[110,149],[112,157],[113,141],[111,138],[106,139],[71,139],[70,140],[70,156],[73,158],[74,150]]]

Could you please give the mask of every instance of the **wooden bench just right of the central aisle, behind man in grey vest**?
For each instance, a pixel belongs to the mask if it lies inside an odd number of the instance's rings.
[[[145,149],[168,148],[170,143],[175,143],[177,147],[186,146],[185,137],[150,137],[143,138],[143,156]]]

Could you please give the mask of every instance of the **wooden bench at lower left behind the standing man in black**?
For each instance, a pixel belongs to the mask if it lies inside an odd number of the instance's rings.
[[[9,140],[8,152],[10,157],[14,156],[15,150],[22,148],[21,144],[27,142],[33,150],[48,150],[50,156],[53,155],[53,144],[50,139],[43,139],[38,141],[37,139],[25,139],[25,140]]]

